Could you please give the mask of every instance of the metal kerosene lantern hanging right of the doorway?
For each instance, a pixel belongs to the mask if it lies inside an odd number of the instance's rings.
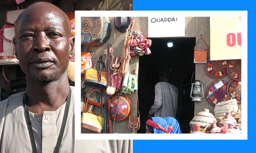
[[[190,90],[190,98],[192,98],[191,101],[198,101],[201,102],[203,95],[203,84],[200,83],[200,80],[195,80],[195,83],[191,84],[191,90]]]

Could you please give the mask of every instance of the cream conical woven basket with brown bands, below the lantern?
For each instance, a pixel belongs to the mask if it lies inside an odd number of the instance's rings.
[[[217,122],[212,113],[209,113],[209,109],[204,108],[204,111],[197,113],[194,118],[189,122],[190,129],[193,131],[193,125],[195,123],[200,124],[200,128],[204,129],[209,123]],[[209,125],[205,132],[210,133],[212,125]]]

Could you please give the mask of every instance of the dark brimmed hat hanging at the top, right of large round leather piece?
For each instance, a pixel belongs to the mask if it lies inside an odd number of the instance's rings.
[[[130,25],[130,17],[115,17],[115,28],[121,33],[125,33]]]

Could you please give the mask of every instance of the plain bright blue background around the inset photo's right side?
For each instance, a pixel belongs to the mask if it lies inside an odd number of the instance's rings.
[[[134,153],[150,152],[255,152],[255,2],[248,0],[133,0],[134,11],[248,11],[248,140],[133,140]],[[255,28],[254,28],[255,29]],[[245,79],[245,78],[243,78]],[[243,101],[246,103],[246,101]]]

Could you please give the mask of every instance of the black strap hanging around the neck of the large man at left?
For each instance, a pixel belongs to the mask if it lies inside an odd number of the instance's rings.
[[[58,137],[58,140],[57,140],[57,144],[54,148],[54,153],[59,152],[60,144],[61,144],[61,141],[62,141],[63,133],[65,131],[65,126],[66,126],[66,122],[67,122],[67,118],[68,118],[70,100],[71,100],[71,89],[69,88],[69,94],[68,94],[68,97],[67,97],[64,116],[63,116],[63,120],[62,120],[62,124],[61,124],[61,128],[60,128],[60,133],[59,133],[59,137]],[[37,153],[37,147],[35,145],[35,139],[34,139],[32,126],[31,126],[31,121],[30,121],[29,112],[28,112],[28,102],[27,102],[27,95],[26,94],[24,95],[23,102],[25,104],[25,108],[24,108],[25,119],[26,119],[26,123],[27,123],[27,126],[28,126],[28,132],[29,132],[32,152]]]

